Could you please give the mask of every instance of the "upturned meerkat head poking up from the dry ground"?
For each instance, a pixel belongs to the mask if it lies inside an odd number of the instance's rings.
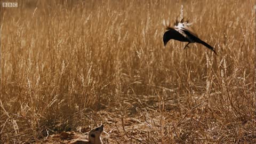
[[[103,125],[99,126],[99,127],[95,127],[94,129],[92,129],[89,132],[89,141],[91,143],[95,143],[95,144],[101,144],[101,138],[100,138],[100,134],[103,132]]]

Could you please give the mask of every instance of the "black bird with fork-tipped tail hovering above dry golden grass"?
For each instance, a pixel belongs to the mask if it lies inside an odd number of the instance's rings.
[[[192,32],[192,30],[189,28],[191,23],[188,23],[188,21],[183,22],[183,19],[181,22],[176,21],[174,23],[174,28],[170,27],[169,23],[166,23],[165,20],[163,21],[163,25],[166,27],[166,32],[164,33],[163,41],[164,46],[166,46],[167,42],[170,41],[170,39],[175,39],[180,42],[188,42],[190,43],[200,43],[206,46],[208,49],[212,50],[215,54],[217,54],[214,51],[214,48],[202,41],[198,36]],[[188,44],[184,47],[188,47]]]

